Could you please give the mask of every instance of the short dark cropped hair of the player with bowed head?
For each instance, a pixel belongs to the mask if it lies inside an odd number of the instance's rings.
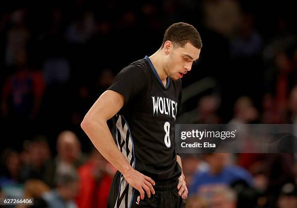
[[[190,43],[195,48],[202,48],[201,37],[196,28],[184,22],[174,23],[167,28],[161,49],[167,40],[170,40],[178,47],[183,47],[185,44]]]

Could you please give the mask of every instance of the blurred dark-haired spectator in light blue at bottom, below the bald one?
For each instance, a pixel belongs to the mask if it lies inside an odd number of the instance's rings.
[[[46,192],[42,198],[49,208],[77,208],[74,202],[79,191],[79,178],[76,172],[69,171],[58,174],[56,179],[57,188]]]

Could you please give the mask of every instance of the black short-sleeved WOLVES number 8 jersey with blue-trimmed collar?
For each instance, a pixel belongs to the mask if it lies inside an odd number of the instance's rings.
[[[155,181],[181,175],[176,160],[175,119],[181,101],[181,79],[167,77],[165,87],[148,56],[122,69],[110,90],[125,98],[114,116],[114,138],[132,167]]]

